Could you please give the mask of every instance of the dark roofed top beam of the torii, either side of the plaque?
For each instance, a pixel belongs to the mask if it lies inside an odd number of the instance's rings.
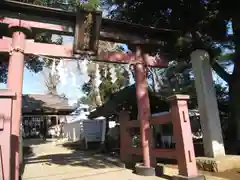
[[[76,14],[73,12],[9,0],[0,1],[0,17],[20,18],[30,21],[31,26],[35,29],[68,35],[73,35],[76,23]],[[8,23],[9,19],[4,21]],[[37,24],[37,22],[41,24]],[[100,40],[127,44],[163,44],[164,41],[172,39],[180,33],[176,30],[152,28],[104,18],[101,24]]]

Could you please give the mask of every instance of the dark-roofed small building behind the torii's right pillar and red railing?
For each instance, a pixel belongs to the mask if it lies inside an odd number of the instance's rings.
[[[170,104],[167,102],[166,97],[157,96],[150,89],[148,93],[151,114],[153,116],[161,112],[164,113],[169,111]],[[122,110],[129,112],[131,120],[137,119],[138,110],[135,85],[128,86],[114,93],[112,97],[110,97],[109,100],[107,100],[102,106],[96,108],[95,111],[91,112],[89,117],[95,118],[98,116],[104,116],[107,120],[111,119],[117,121],[118,123],[121,123],[119,122],[118,113]],[[201,141],[202,132],[198,111],[189,110],[189,117],[191,120],[193,139],[194,141]],[[155,139],[158,139],[155,141],[157,147],[160,146],[160,144],[163,144],[162,142],[165,143],[165,141],[167,141],[167,144],[169,144],[169,146],[173,144],[173,127],[171,122],[162,125],[154,125],[152,127],[154,132],[153,136],[155,136]],[[107,132],[108,130],[109,128],[107,127]],[[137,141],[139,141],[140,128],[131,128],[131,133],[132,135],[134,134],[133,139],[136,138]],[[159,134],[161,134],[161,137],[159,137]]]

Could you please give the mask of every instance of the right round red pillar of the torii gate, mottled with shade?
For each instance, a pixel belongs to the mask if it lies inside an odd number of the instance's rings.
[[[136,76],[136,96],[138,105],[138,120],[140,121],[140,137],[143,151],[143,165],[150,167],[150,103],[148,96],[148,84],[144,64],[134,66]]]

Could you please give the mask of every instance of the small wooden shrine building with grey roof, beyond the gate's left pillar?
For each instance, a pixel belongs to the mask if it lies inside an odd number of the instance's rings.
[[[25,138],[38,138],[40,132],[66,122],[74,111],[68,100],[51,94],[26,94],[22,97],[22,128]]]

